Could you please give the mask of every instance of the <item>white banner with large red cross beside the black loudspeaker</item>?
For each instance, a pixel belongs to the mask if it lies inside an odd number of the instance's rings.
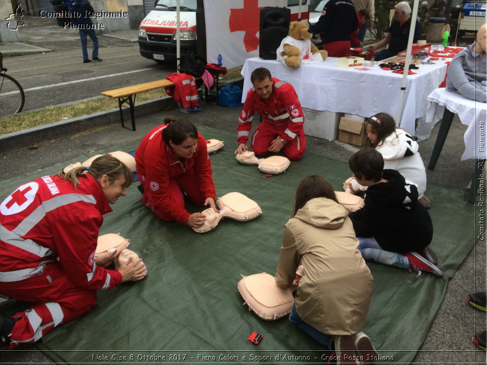
[[[287,5],[287,0],[204,1],[206,24],[206,60],[223,67],[241,66],[247,58],[259,56],[261,9]]]

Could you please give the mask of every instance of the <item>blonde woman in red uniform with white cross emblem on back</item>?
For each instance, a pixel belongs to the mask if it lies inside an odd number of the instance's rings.
[[[103,215],[131,183],[127,166],[101,156],[25,183],[0,203],[0,296],[37,303],[0,317],[0,346],[33,343],[91,310],[97,290],[147,274],[140,259],[104,269],[118,251],[94,256]]]

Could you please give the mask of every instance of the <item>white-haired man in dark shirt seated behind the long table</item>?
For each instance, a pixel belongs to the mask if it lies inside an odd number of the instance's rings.
[[[397,3],[394,8],[395,19],[389,27],[389,33],[387,33],[387,36],[379,42],[369,46],[369,51],[375,51],[377,48],[389,44],[389,49],[382,50],[375,54],[376,61],[393,57],[404,52],[408,47],[409,30],[411,29],[411,7],[406,1],[401,1]],[[421,39],[422,34],[423,27],[421,27],[419,20],[416,19],[416,27],[412,38],[413,43],[416,43],[418,39]]]

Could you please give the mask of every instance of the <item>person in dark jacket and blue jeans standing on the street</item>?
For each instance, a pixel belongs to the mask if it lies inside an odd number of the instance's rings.
[[[73,4],[73,18],[76,22],[76,28],[79,30],[79,37],[81,38],[81,50],[83,51],[83,62],[88,63],[92,60],[88,58],[87,51],[87,36],[93,41],[92,59],[94,61],[102,61],[98,57],[98,37],[94,31],[94,24],[91,16],[94,14],[91,0],[76,0]]]

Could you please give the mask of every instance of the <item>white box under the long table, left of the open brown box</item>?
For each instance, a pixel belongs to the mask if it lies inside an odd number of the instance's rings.
[[[338,123],[343,113],[303,108],[304,134],[332,141],[338,137]]]

